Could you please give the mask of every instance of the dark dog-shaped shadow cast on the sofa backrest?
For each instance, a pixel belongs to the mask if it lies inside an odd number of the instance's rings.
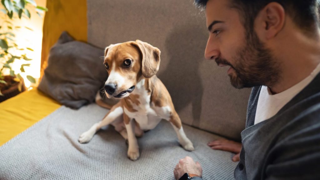
[[[192,125],[197,126],[201,115],[203,85],[199,75],[204,61],[207,35],[198,25],[176,27],[165,41],[167,68],[159,78],[167,87],[176,111],[192,103]]]

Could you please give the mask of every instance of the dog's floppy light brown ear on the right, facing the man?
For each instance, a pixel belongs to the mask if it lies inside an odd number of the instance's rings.
[[[141,71],[145,78],[151,78],[155,75],[160,66],[160,50],[152,45],[136,40],[132,43],[141,54]]]

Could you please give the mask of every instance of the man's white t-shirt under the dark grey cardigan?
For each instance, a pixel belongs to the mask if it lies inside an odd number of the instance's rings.
[[[267,86],[262,86],[254,124],[258,124],[264,120],[271,118],[284,107],[295,95],[297,95],[303,88],[305,88],[320,72],[320,64],[312,71],[310,76],[300,81],[298,84],[290,87],[289,89],[278,93],[272,94]],[[320,85],[319,85],[320,86]]]

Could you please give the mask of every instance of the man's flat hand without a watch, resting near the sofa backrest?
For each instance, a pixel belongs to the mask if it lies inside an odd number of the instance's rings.
[[[233,156],[232,161],[236,162],[240,160],[240,151],[242,147],[241,143],[230,141],[227,139],[219,139],[208,143],[208,146],[210,146],[211,149],[236,153],[236,155]]]

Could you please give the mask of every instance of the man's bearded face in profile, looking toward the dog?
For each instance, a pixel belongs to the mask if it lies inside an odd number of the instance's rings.
[[[236,88],[271,86],[279,78],[279,65],[253,31],[244,28],[231,0],[209,0],[206,5],[209,39],[205,58],[230,66],[228,75]]]

